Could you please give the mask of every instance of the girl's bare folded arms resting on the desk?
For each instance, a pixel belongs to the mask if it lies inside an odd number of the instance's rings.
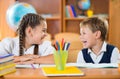
[[[38,56],[38,55],[24,55],[15,56],[14,62],[16,64],[53,64],[53,55]]]

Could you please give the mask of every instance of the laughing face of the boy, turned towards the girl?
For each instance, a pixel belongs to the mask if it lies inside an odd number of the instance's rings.
[[[96,32],[92,32],[88,26],[80,28],[80,39],[84,48],[92,48],[96,44]]]

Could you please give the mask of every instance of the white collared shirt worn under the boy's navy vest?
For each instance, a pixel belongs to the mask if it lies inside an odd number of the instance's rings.
[[[100,54],[98,56],[96,56],[90,49],[88,49],[88,53],[90,54],[95,64],[98,64],[100,62],[101,58],[103,57],[104,52],[106,51],[106,46],[107,46],[107,43],[104,42],[100,50]],[[110,60],[111,63],[117,63],[119,55],[120,55],[119,49],[115,47],[112,51],[111,60]],[[86,63],[83,58],[82,51],[78,53],[77,64],[79,63]]]

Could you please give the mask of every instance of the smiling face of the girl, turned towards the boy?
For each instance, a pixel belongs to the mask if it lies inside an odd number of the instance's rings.
[[[32,44],[41,44],[45,36],[47,35],[47,23],[42,21],[41,25],[36,26],[31,31],[31,43]]]

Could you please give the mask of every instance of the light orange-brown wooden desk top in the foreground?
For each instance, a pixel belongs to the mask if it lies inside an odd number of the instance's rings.
[[[15,73],[5,75],[0,79],[120,79],[120,69],[117,68],[80,68],[84,76],[46,77],[39,69],[17,69]]]

